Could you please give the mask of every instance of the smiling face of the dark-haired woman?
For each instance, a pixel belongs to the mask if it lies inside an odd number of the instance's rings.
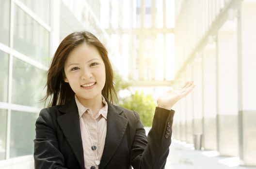
[[[69,83],[81,103],[101,99],[106,81],[105,65],[96,47],[80,44],[67,56],[64,81]]]

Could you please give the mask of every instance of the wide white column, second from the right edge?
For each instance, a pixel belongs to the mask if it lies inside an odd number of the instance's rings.
[[[236,28],[236,19],[227,20],[218,32],[218,148],[230,156],[239,154]]]

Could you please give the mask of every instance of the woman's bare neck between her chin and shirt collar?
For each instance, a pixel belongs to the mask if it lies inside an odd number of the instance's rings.
[[[77,96],[77,98],[79,99],[80,103],[86,107],[92,110],[93,115],[96,115],[99,110],[104,107],[104,104],[102,102],[102,97],[101,95],[96,96],[93,99],[81,99]]]

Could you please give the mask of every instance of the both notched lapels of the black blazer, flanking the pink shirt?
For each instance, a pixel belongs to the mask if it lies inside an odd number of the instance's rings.
[[[117,150],[119,144],[122,141],[122,138],[124,137],[128,124],[128,120],[120,115],[123,110],[120,107],[113,105],[106,97],[104,98],[108,103],[107,134],[99,169],[103,169],[114,155],[115,151]],[[61,106],[59,108],[59,111],[64,114],[59,116],[57,118],[57,121],[62,128],[64,136],[70,144],[71,149],[76,155],[80,167],[83,169],[83,148],[79,113],[75,97],[72,97],[72,99],[67,104]]]

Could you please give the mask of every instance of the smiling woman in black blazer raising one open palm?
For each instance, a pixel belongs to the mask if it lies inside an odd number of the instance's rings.
[[[90,32],[68,35],[48,70],[48,108],[36,121],[35,169],[163,169],[171,144],[172,106],[195,85],[158,99],[145,135],[139,114],[113,105],[113,73],[104,45]]]

